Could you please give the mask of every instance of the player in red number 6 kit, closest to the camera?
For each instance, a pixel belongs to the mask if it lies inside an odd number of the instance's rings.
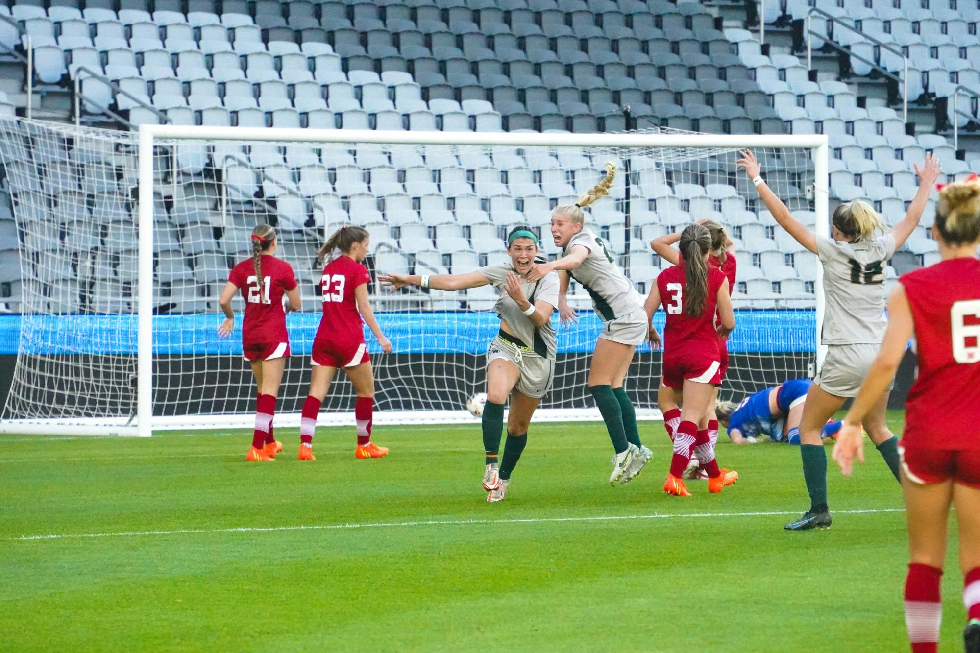
[[[911,563],[906,626],[914,653],[934,653],[943,608],[940,577],[950,505],[956,506],[966,653],[980,653],[980,183],[976,176],[939,193],[933,237],[941,261],[899,279],[888,330],[837,436],[834,460],[850,476],[864,462],[858,422],[887,395],[915,337],[918,376],[908,391],[902,434],[902,488]]]

